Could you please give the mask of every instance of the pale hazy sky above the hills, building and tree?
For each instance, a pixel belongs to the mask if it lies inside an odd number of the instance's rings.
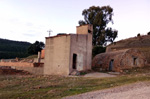
[[[45,42],[48,30],[76,33],[82,11],[110,5],[114,10],[117,40],[150,31],[150,0],[0,0],[0,38]]]

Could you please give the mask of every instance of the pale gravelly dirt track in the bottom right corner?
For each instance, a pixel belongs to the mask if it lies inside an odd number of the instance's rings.
[[[150,99],[150,82],[88,92],[63,99]]]

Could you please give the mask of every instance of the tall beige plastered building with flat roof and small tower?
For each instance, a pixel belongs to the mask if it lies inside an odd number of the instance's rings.
[[[92,25],[77,26],[77,34],[46,37],[44,74],[69,75],[91,69]]]

